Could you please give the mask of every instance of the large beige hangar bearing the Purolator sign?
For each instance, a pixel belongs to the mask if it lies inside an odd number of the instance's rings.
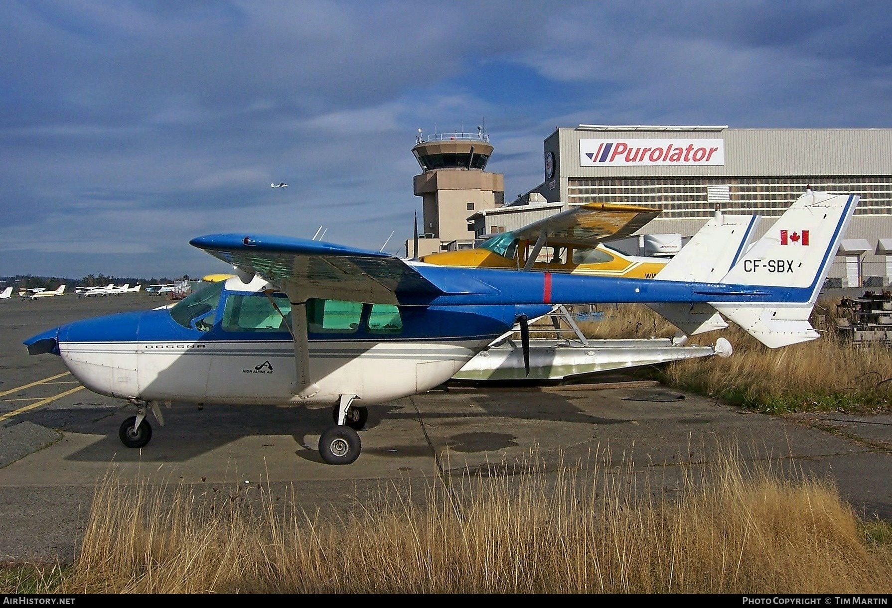
[[[556,128],[543,160],[542,184],[511,206],[658,207],[661,216],[641,231],[648,234],[690,236],[716,205],[764,216],[764,234],[808,185],[860,194],[830,276],[843,287],[889,284],[892,129],[580,125]]]

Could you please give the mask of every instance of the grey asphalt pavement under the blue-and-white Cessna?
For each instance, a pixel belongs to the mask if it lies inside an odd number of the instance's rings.
[[[345,512],[373,489],[491,475],[531,453],[546,472],[593,457],[625,464],[672,492],[681,463],[713,462],[730,442],[747,459],[829,479],[863,517],[892,521],[892,415],[762,415],[617,374],[581,386],[450,387],[369,407],[362,454],[346,466],[318,456],[330,410],[302,407],[173,404],[163,427],[150,415],[151,442],[128,449],[118,429],[135,408],[83,388],[59,357],[29,357],[21,341],[165,303],[145,293],[0,300],[0,561],[70,561],[110,471],[196,489],[282,486],[310,511]]]

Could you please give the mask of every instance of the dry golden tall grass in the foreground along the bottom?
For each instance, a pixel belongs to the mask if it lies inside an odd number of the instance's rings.
[[[607,463],[601,452],[546,473],[531,458],[529,474],[436,481],[423,505],[384,491],[335,521],[264,490],[215,500],[112,474],[56,590],[892,592],[889,547],[863,541],[827,482],[723,449],[718,464],[682,467],[679,497],[664,500],[659,481]]]

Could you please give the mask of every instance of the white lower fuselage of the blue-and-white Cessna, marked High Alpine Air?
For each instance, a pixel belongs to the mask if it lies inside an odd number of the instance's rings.
[[[71,374],[118,398],[209,404],[330,405],[343,394],[364,405],[433,389],[491,340],[310,341],[309,377],[318,390],[294,394],[293,342],[62,342]]]

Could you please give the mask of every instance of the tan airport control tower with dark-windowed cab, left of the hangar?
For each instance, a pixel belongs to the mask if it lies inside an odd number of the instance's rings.
[[[456,131],[426,138],[418,129],[412,153],[423,171],[414,178],[415,194],[424,206],[417,255],[473,248],[474,223],[467,218],[505,201],[505,176],[483,170],[492,154],[489,136],[482,127],[476,133]],[[415,257],[414,249],[409,239],[407,257]]]

